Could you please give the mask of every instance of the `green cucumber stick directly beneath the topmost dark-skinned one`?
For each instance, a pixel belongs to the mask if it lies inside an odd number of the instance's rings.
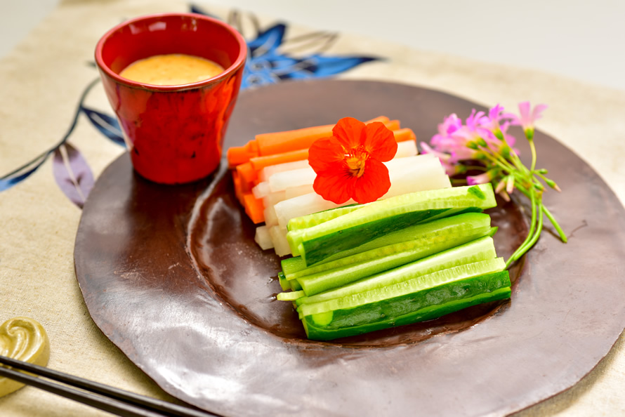
[[[457,216],[449,216],[447,218],[432,220],[421,223],[420,225],[413,225],[402,230],[397,230],[396,232],[386,234],[378,239],[367,241],[367,243],[356,246],[355,248],[336,253],[312,267],[306,267],[301,257],[284,258],[280,263],[282,272],[287,276],[287,279],[294,279],[303,277],[304,274],[310,275],[312,273],[321,272],[322,270],[334,269],[334,266],[330,267],[330,263],[334,263],[340,259],[344,260],[357,253],[371,251],[372,249],[378,249],[383,246],[399,244],[404,241],[412,241],[418,239],[420,236],[430,237],[440,234],[468,234],[469,229],[478,230],[482,227],[489,226],[490,216],[486,213],[463,213]],[[340,262],[341,261],[338,261],[336,263],[338,264]],[[328,265],[328,267],[322,267],[322,265]]]

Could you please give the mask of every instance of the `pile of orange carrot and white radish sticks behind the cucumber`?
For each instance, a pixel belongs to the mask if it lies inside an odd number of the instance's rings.
[[[384,116],[365,123],[374,121],[385,124],[397,140],[395,159],[386,163],[392,186],[383,198],[451,187],[438,159],[416,155],[412,129]],[[338,206],[313,191],[315,172],[308,165],[308,148],[315,140],[331,136],[332,128],[334,124],[263,133],[244,146],[228,150],[237,199],[254,223],[265,223],[256,230],[256,242],[263,250],[273,248],[278,256],[289,255],[289,220]],[[341,205],[348,204],[354,201]]]

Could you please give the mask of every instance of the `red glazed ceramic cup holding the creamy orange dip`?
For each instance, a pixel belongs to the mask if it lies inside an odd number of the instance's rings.
[[[225,71],[178,86],[119,77],[136,60],[169,53],[207,58]],[[156,183],[189,183],[217,168],[246,55],[245,40],[235,29],[192,13],[135,18],[100,39],[100,76],[141,176]]]

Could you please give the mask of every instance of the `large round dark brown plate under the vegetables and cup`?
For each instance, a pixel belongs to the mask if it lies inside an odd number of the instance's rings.
[[[495,103],[490,103],[495,104]],[[298,81],[242,93],[225,145],[255,133],[386,114],[428,140],[442,117],[481,109],[402,84]],[[367,336],[305,340],[273,297],[278,260],[253,241],[225,169],[161,186],[127,155],[84,207],[74,260],[91,317],[172,395],[232,416],[404,413],[504,415],[562,392],[625,326],[624,209],[579,157],[538,132],[540,163],[565,190],[546,204],[570,241],[547,230],[513,272],[512,299]],[[527,154],[527,147],[520,144]],[[507,257],[521,208],[493,212]]]

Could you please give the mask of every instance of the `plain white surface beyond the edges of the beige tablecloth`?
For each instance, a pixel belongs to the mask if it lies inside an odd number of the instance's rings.
[[[0,58],[59,0],[0,0]],[[192,1],[190,0],[190,3]],[[195,0],[625,91],[623,0]],[[376,51],[372,51],[376,52]]]

